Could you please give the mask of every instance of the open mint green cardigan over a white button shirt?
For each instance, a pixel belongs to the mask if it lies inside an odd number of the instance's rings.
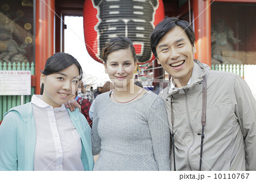
[[[84,170],[93,170],[91,130],[79,110],[70,112],[72,123],[82,142],[81,161]],[[5,113],[0,125],[0,170],[34,170],[36,142],[32,104],[17,106]]]

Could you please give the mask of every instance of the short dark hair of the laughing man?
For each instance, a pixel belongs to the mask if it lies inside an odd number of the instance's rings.
[[[176,26],[180,26],[181,28],[183,28],[193,47],[193,44],[195,43],[196,38],[195,38],[195,32],[193,31],[192,26],[185,20],[179,20],[175,17],[171,17],[171,18],[167,17],[163,19],[160,23],[156,24],[155,29],[151,33],[150,47],[156,58],[158,57],[158,54],[156,53],[156,49],[155,49],[156,45],[159,43],[162,37],[166,35],[168,31],[172,30],[172,28]]]

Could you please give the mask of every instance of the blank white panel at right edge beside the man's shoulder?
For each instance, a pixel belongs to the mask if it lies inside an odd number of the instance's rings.
[[[254,98],[256,99],[256,65],[244,66],[245,81],[251,89]]]

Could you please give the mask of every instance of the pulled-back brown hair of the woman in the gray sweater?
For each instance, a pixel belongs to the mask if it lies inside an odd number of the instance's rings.
[[[113,53],[121,49],[129,49],[129,48],[131,50],[131,53],[133,54],[134,62],[136,62],[137,56],[135,53],[133,42],[131,42],[129,38],[122,37],[122,36],[114,37],[113,39],[109,40],[109,42],[106,44],[106,46],[102,50],[101,58],[106,63],[110,53]]]

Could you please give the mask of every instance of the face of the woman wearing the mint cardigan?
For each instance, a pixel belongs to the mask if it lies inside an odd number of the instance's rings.
[[[76,94],[79,78],[79,69],[75,64],[53,74],[42,74],[41,83],[44,84],[42,100],[53,108],[60,107]]]

